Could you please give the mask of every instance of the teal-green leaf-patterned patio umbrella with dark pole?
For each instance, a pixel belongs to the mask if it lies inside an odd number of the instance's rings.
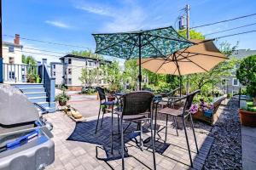
[[[178,35],[172,26],[145,31],[92,34],[96,40],[96,54],[121,59],[139,59],[139,89],[141,89],[141,59],[166,57],[180,49],[194,45]]]

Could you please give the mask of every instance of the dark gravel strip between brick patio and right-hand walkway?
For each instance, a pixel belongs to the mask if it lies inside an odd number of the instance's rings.
[[[230,99],[209,136],[214,137],[204,169],[241,169],[241,125],[237,99]]]

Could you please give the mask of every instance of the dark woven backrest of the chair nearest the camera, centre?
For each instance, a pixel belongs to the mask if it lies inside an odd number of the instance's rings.
[[[123,115],[138,115],[151,111],[154,94],[148,91],[132,92],[125,94],[122,99]]]

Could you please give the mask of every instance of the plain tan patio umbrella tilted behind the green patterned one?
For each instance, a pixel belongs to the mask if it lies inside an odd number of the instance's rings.
[[[141,65],[155,73],[182,76],[211,71],[215,65],[229,59],[220,53],[213,40],[194,39],[190,41],[195,42],[195,45],[167,55],[166,58],[142,59]]]

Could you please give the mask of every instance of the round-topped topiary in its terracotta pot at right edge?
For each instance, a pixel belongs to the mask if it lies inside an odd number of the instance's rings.
[[[256,127],[256,55],[248,56],[241,61],[236,77],[242,85],[246,86],[246,94],[253,98],[253,103],[239,109],[241,124]]]

